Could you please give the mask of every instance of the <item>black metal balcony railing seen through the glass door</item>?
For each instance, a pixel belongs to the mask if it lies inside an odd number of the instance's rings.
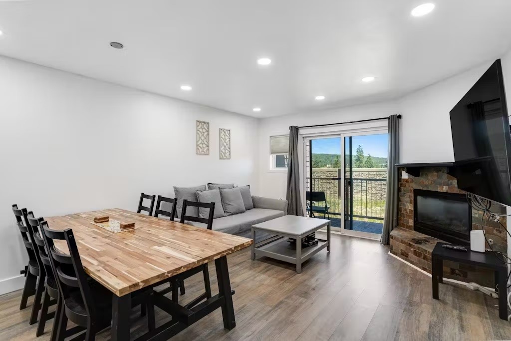
[[[345,210],[346,216],[351,214],[351,200],[346,200],[343,207],[341,189],[342,178],[313,177],[312,191],[324,192],[332,215],[341,215]],[[383,220],[385,214],[387,179],[385,178],[353,178],[345,179],[345,197],[353,196],[353,217],[363,219]],[[310,178],[307,178],[307,190],[310,190]],[[353,192],[352,192],[353,191]],[[316,202],[315,206],[324,207],[324,202]]]

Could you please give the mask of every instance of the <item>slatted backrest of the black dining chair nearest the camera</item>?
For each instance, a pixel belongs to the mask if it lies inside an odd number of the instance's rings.
[[[42,221],[40,224],[62,298],[65,300],[71,290],[79,288],[87,315],[95,315],[95,304],[92,301],[90,288],[87,284],[87,276],[83,270],[73,230],[56,231],[51,230],[46,221]],[[69,249],[69,255],[57,251],[54,240],[65,240]]]

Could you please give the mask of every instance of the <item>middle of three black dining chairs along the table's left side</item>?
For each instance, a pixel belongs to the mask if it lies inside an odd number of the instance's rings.
[[[39,337],[44,333],[44,326],[46,322],[53,319],[55,313],[49,313],[48,309],[57,303],[59,299],[59,289],[56,282],[56,276],[52,269],[52,264],[50,263],[50,258],[48,257],[48,253],[46,251],[46,247],[44,244],[44,239],[40,234],[40,226],[41,223],[45,223],[42,217],[34,218],[34,214],[32,212],[28,212],[27,221],[29,223],[30,228],[32,229],[32,243],[36,246],[36,258],[40,265],[40,268],[44,271],[41,271],[40,281],[43,280],[43,276],[45,278],[45,290],[44,297],[41,305],[41,313],[39,316],[39,324],[37,325],[36,336]],[[43,274],[44,272],[44,274]],[[57,321],[57,319],[55,319]],[[56,328],[54,323],[54,328],[52,330],[51,340],[55,339]]]

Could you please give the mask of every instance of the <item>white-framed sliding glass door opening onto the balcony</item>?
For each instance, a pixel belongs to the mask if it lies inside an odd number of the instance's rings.
[[[386,202],[386,129],[304,138],[306,215],[341,233],[380,238]]]

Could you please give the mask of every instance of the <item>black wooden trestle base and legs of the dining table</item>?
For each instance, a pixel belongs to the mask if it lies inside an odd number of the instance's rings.
[[[151,330],[152,328],[150,327],[149,332],[138,337],[136,341],[168,340],[218,308],[222,308],[224,328],[231,330],[236,327],[233,306],[234,291],[230,288],[227,257],[223,256],[216,259],[215,267],[217,271],[219,293],[194,307],[183,307],[166,298],[164,295],[153,291],[151,294],[153,298],[151,303],[172,315],[172,320],[156,327],[154,330]],[[168,281],[168,279],[166,281]],[[157,283],[154,286],[157,285],[159,284]],[[130,307],[131,293],[125,294],[121,297],[112,295],[111,339],[113,341],[126,341],[130,339]],[[151,309],[149,309],[148,313],[153,313],[150,310]]]

